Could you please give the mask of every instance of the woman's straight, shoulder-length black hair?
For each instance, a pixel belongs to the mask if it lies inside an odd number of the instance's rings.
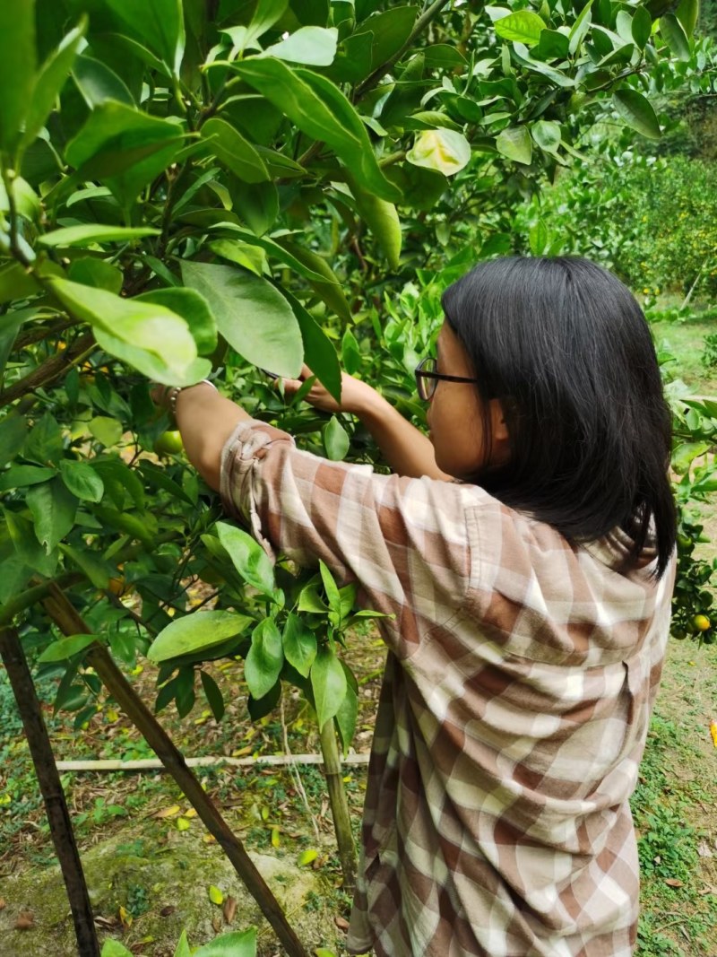
[[[454,282],[443,307],[510,434],[510,460],[471,478],[571,541],[621,528],[632,563],[654,544],[661,576],[676,536],[671,417],[630,291],[577,256],[511,256]]]

